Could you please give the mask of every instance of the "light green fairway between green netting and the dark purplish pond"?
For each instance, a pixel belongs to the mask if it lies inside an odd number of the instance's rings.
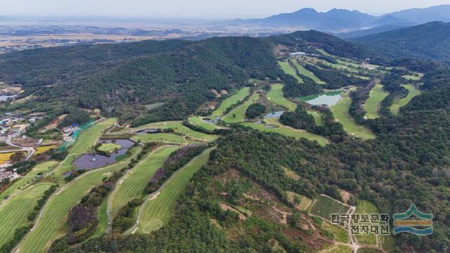
[[[96,144],[96,141],[98,137],[101,136],[103,130],[108,126],[115,124],[115,122],[117,122],[117,119],[115,118],[105,119],[103,122],[94,124],[94,126],[82,131],[75,144],[70,148],[69,154],[82,154],[88,152],[89,149]]]

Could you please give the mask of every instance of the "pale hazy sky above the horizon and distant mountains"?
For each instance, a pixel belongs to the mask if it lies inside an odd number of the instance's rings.
[[[440,4],[450,0],[0,0],[0,15],[249,18],[305,7],[382,14]]]

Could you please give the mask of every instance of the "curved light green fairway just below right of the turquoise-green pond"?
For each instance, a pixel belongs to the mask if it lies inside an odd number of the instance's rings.
[[[349,108],[352,104],[351,98],[342,98],[335,105],[331,107],[335,119],[344,126],[345,131],[351,136],[355,136],[361,139],[373,139],[375,134],[371,130],[366,129],[364,126],[360,126],[354,122],[352,115],[349,115]]]

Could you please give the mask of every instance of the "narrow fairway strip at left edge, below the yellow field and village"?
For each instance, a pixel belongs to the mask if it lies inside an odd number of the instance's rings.
[[[28,186],[30,186],[33,183],[34,179],[37,179],[39,177],[39,176],[37,176],[37,174],[51,171],[51,168],[55,164],[58,164],[58,162],[49,161],[49,162],[43,162],[41,164],[37,164],[32,169],[32,171],[27,173],[27,175],[25,177],[22,177],[22,178],[16,180],[12,186],[9,186],[3,193],[0,194],[0,204],[7,197],[11,197],[11,195],[17,194],[18,192],[20,192],[20,190],[23,190],[23,189],[27,188]]]

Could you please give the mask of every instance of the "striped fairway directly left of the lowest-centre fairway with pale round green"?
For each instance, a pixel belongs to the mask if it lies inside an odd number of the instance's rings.
[[[178,147],[164,147],[153,151],[120,179],[110,197],[110,215],[115,217],[119,209],[135,198],[142,197],[143,190],[153,174]]]

